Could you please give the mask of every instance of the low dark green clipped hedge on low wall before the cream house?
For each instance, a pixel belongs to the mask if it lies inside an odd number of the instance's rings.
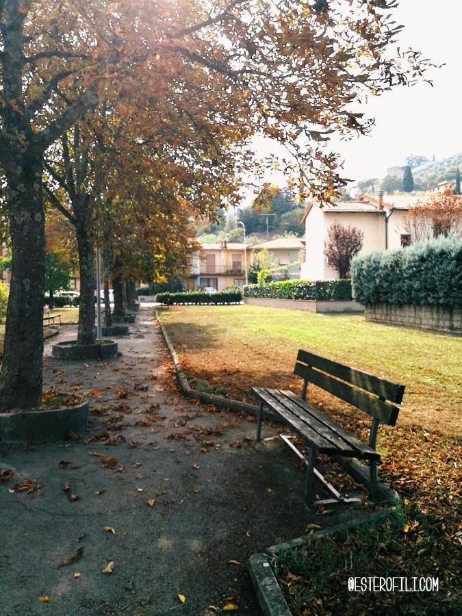
[[[349,301],[351,282],[350,280],[284,280],[264,285],[246,285],[244,297]]]

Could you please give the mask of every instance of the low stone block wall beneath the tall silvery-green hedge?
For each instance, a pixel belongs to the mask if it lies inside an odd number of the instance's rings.
[[[374,304],[365,307],[365,320],[462,334],[462,307]]]

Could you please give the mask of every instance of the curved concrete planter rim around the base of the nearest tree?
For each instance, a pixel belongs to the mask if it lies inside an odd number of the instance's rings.
[[[77,398],[70,394],[62,395]],[[87,431],[88,413],[88,400],[75,407],[49,411],[0,413],[0,441],[2,444],[64,441],[69,430],[78,435]]]

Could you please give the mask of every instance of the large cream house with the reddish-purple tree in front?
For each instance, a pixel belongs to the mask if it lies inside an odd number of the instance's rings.
[[[361,195],[357,201],[339,201],[335,205],[313,202],[305,211],[306,259],[302,279],[326,280],[339,277],[327,264],[324,242],[333,222],[357,227],[364,233],[363,251],[398,248],[409,243],[405,216],[422,196],[381,194]]]

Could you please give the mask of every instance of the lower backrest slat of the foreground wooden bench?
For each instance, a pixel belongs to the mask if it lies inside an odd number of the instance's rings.
[[[309,366],[303,365],[302,363],[297,362],[295,364],[294,372],[298,376],[306,378],[309,383],[321,387],[324,391],[348,402],[348,404],[353,407],[357,407],[357,409],[368,413],[368,415],[372,415],[372,417],[377,418],[383,424],[387,424],[388,426],[394,426],[396,424],[399,413],[397,407],[389,405],[387,402],[383,402],[383,400],[379,400],[378,398],[374,398],[365,392],[360,392],[359,389],[355,389],[347,383],[337,381],[337,379],[332,378],[328,374],[313,370],[313,368],[309,368]]]

